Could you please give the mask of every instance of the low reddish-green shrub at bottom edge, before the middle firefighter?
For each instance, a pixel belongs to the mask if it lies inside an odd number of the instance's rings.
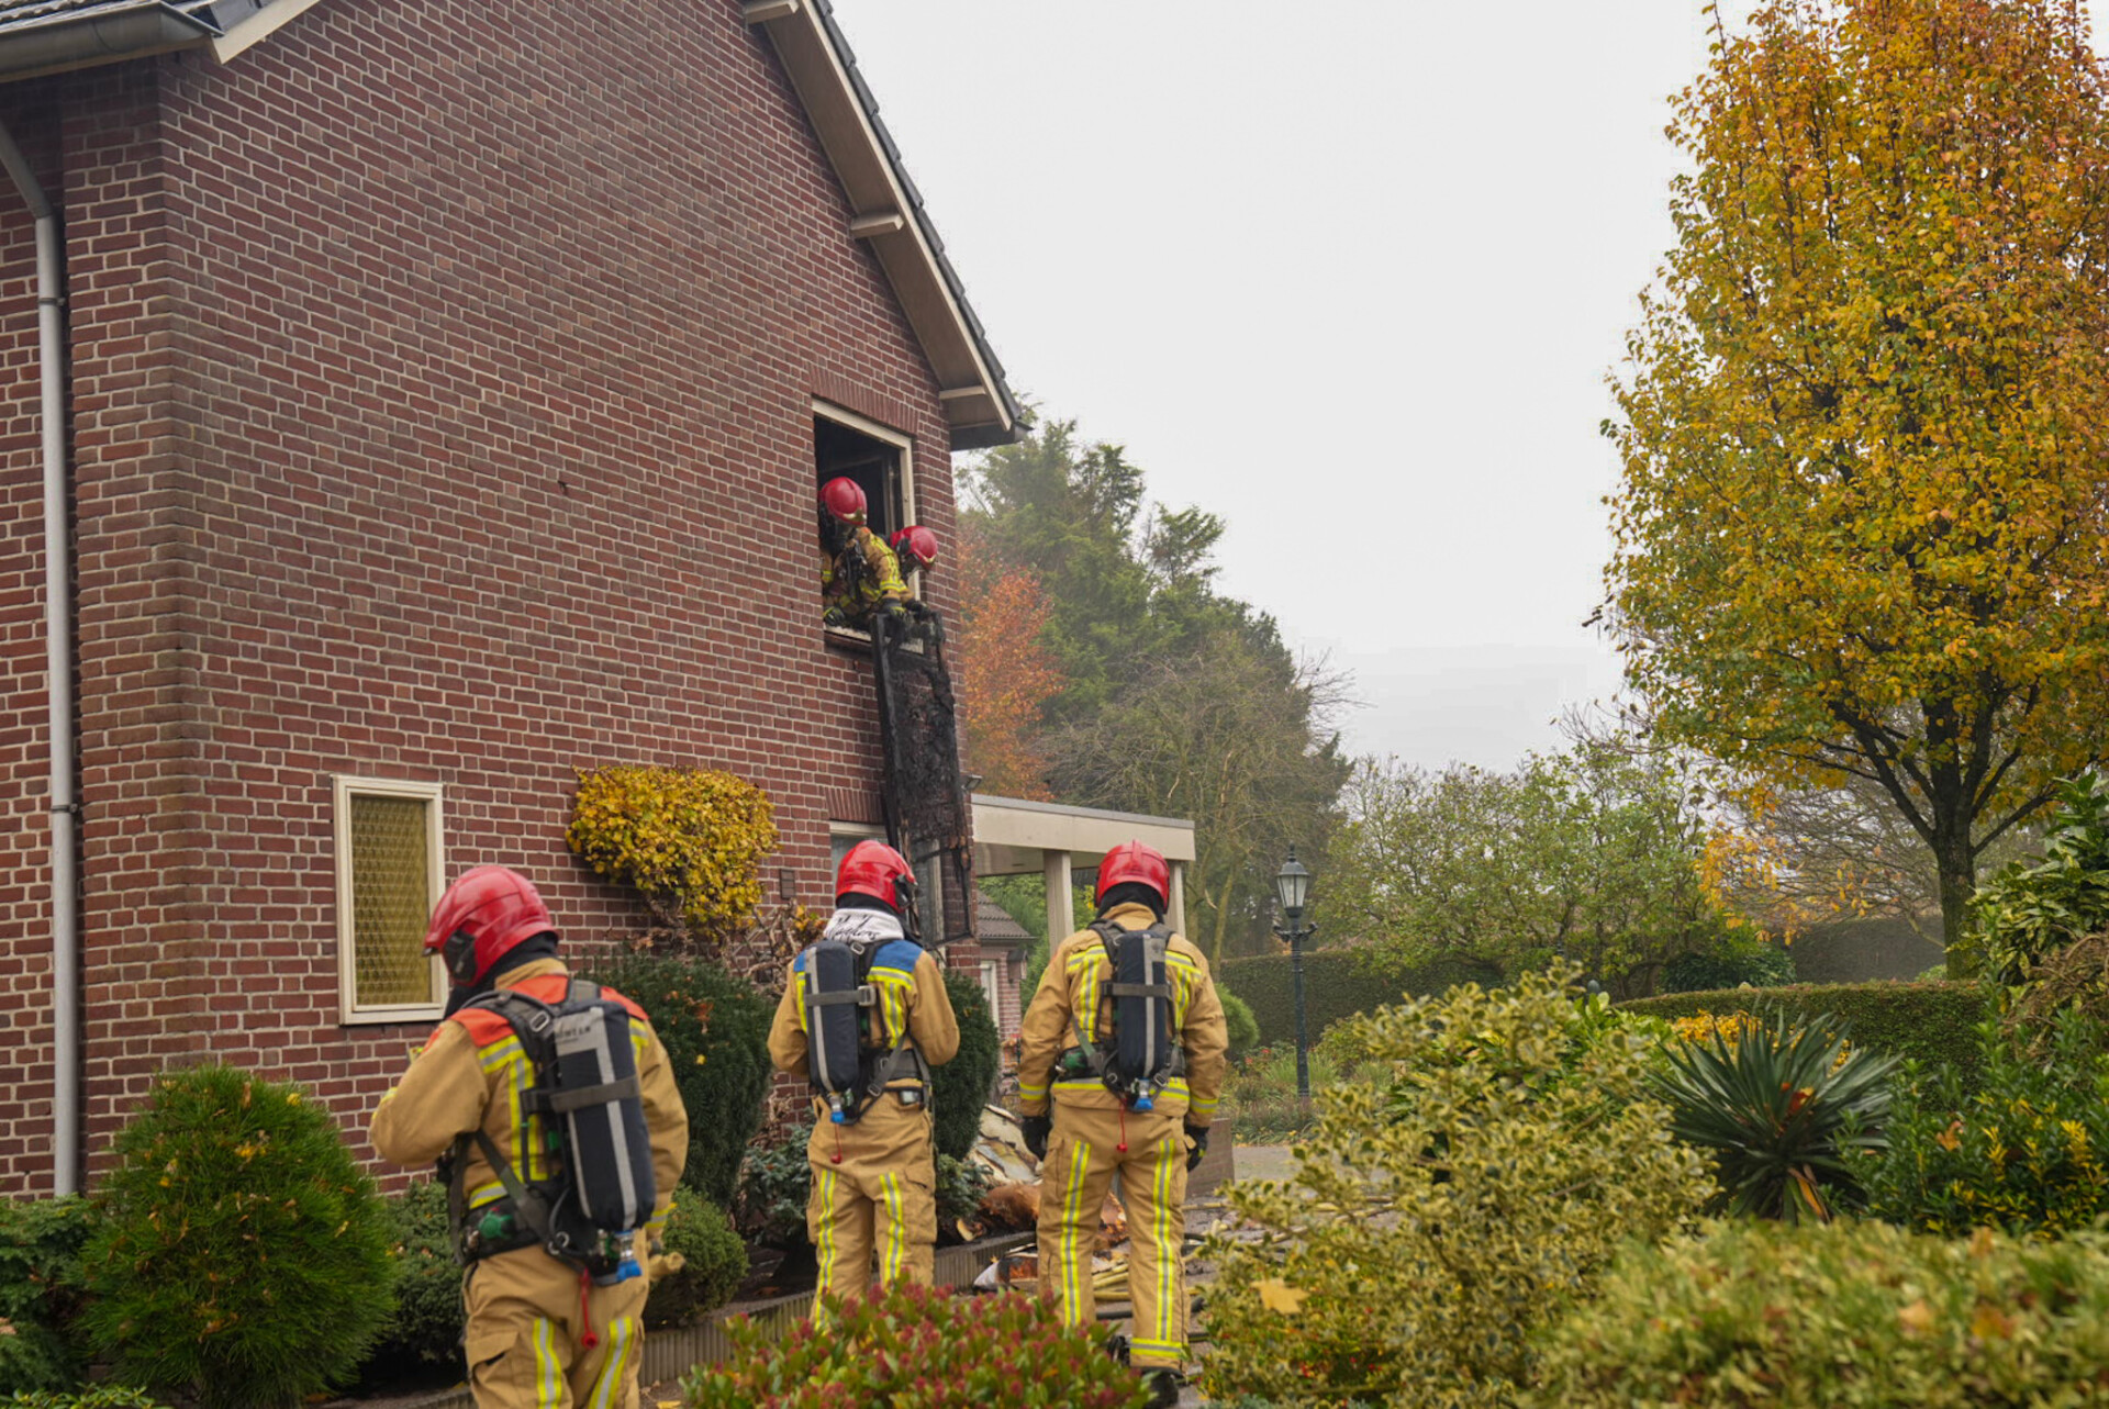
[[[681,1384],[685,1409],[1139,1409],[1141,1382],[1099,1335],[1061,1323],[1038,1297],[953,1297],[896,1282],[848,1304],[823,1299],[770,1339],[744,1316],[730,1323],[732,1356]]]

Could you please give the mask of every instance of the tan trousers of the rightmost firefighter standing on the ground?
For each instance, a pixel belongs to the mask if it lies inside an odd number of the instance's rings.
[[[1073,1327],[1097,1323],[1090,1255],[1099,1209],[1120,1177],[1128,1211],[1128,1352],[1141,1369],[1185,1358],[1185,1156],[1183,1116],[1054,1103],[1048,1158],[1040,1160],[1040,1287]],[[1122,1150],[1126,1145],[1126,1150]]]

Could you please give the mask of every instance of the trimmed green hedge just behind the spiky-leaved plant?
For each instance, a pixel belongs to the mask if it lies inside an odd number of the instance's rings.
[[[1852,1027],[1858,1046],[1923,1067],[1949,1063],[1976,1090],[1982,1057],[1976,1025],[1995,1015],[1993,991],[1978,983],[1788,983],[1776,989],[1713,989],[1620,1004],[1628,1012],[1829,1012]]]

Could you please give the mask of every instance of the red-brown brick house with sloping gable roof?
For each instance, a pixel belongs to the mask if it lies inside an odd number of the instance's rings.
[[[0,0],[0,1192],[169,1063],[363,1131],[447,877],[637,928],[578,768],[751,778],[827,901],[816,479],[949,538],[1017,424],[827,0]]]

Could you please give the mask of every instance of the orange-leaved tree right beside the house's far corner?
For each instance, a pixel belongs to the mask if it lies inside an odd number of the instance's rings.
[[[1048,802],[1042,707],[1067,683],[1040,639],[1050,603],[1033,574],[1004,567],[970,525],[957,563],[968,768],[991,793]]]

